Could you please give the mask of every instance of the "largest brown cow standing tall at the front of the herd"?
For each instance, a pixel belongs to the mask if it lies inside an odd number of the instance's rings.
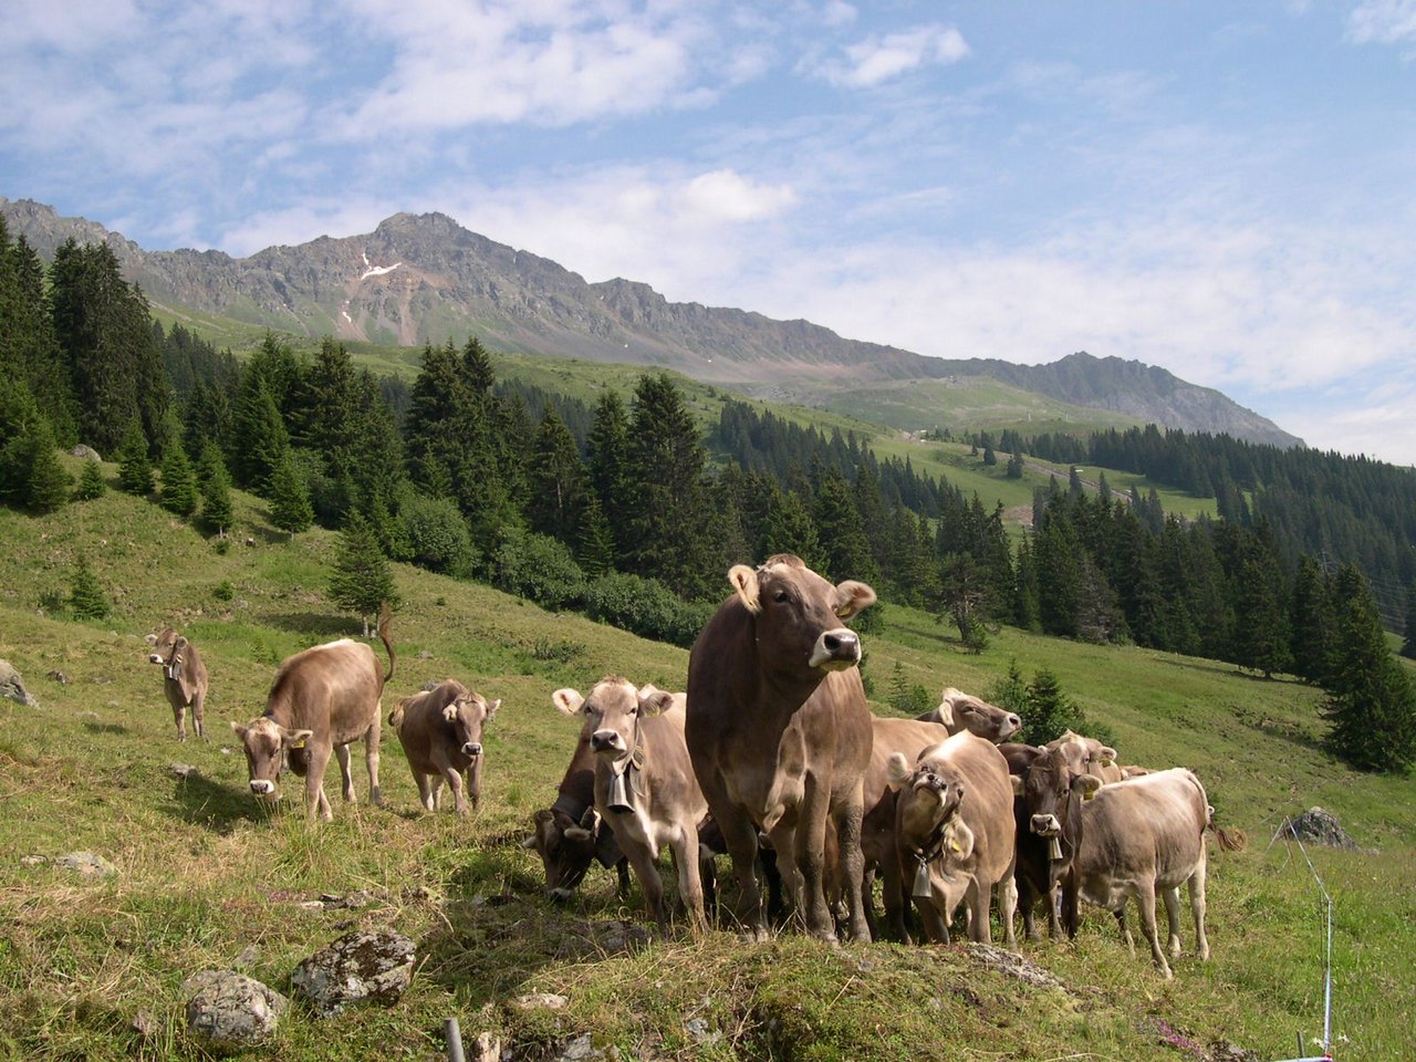
[[[733,596],[688,657],[687,738],[732,855],[739,925],[766,936],[755,872],[765,830],[807,930],[835,939],[824,881],[834,821],[850,932],[868,940],[861,816],[871,714],[855,667],[861,643],[841,622],[874,603],[875,590],[851,579],[833,586],[790,554],[736,565],[728,582]]]

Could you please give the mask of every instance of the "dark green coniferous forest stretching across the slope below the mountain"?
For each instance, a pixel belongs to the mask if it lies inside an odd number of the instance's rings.
[[[153,321],[106,245],[69,241],[45,266],[0,221],[0,501],[13,508],[101,490],[58,460],[86,443],[119,463],[123,490],[210,534],[231,520],[232,484],[263,497],[283,532],[340,530],[353,610],[372,610],[353,588],[392,558],[678,644],[732,564],[790,551],[932,612],[969,651],[1008,623],[1297,675],[1328,691],[1335,752],[1375,770],[1416,760],[1416,694],[1382,630],[1409,623],[1416,472],[1155,426],[978,442],[1018,469],[1029,453],[1143,473],[1215,497],[1219,517],[1182,520],[1154,491],[1104,481],[1087,491],[1073,473],[1038,489],[1031,530],[1011,535],[1001,504],[879,460],[854,435],[735,401],[705,433],[656,372],[588,408],[497,379],[476,337],[426,346],[411,387],[357,368],[331,338],[307,354],[268,334],[238,362]]]

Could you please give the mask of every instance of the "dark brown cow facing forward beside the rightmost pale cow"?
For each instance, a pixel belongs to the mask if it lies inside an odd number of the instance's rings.
[[[1018,909],[1028,940],[1038,939],[1034,910],[1039,899],[1048,905],[1048,933],[1062,936],[1056,889],[1063,884],[1062,903],[1076,908],[1076,878],[1068,874],[1082,843],[1082,801],[1102,786],[1095,775],[1076,775],[1066,756],[1034,745],[1000,745],[1012,775],[1012,816],[1017,833]]]

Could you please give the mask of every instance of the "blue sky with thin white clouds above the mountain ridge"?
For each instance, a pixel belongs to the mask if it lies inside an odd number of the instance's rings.
[[[1416,0],[8,0],[0,195],[147,249],[442,211],[1416,463]]]

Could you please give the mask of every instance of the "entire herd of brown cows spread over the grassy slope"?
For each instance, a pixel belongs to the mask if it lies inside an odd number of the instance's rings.
[[[585,694],[551,695],[582,721],[555,800],[532,816],[524,841],[552,898],[572,896],[592,862],[617,871],[624,896],[633,868],[650,915],[666,925],[675,910],[660,877],[667,847],[677,910],[695,932],[714,908],[714,857],[731,858],[738,888],[726,918],[750,939],[789,920],[826,940],[947,942],[961,912],[969,937],[987,943],[997,910],[1011,947],[1015,912],[1035,939],[1041,903],[1056,937],[1078,932],[1086,902],[1114,913],[1130,947],[1134,899],[1170,977],[1185,886],[1195,953],[1208,957],[1205,833],[1223,848],[1243,838],[1214,827],[1194,773],[1123,769],[1113,749],[1070,731],[1042,748],[1008,743],[1021,719],[954,688],[918,719],[872,716],[861,643],[844,626],[875,600],[869,586],[833,585],[790,554],[736,565],[728,579],[733,593],[690,654],[687,692],[610,675]],[[307,649],[280,666],[265,712],[232,724],[253,796],[278,799],[287,766],[304,777],[306,814],[330,818],[329,759],[353,800],[348,746],[362,738],[370,799],[381,803],[379,701],[395,663],[388,627],[385,609],[387,671],[362,643]],[[197,649],[164,630],[150,660],[163,667],[178,738],[188,707],[205,736]],[[446,782],[459,814],[476,810],[483,726],[498,707],[447,680],[392,709],[425,809],[438,809]],[[1157,898],[1168,918],[1164,947]]]

